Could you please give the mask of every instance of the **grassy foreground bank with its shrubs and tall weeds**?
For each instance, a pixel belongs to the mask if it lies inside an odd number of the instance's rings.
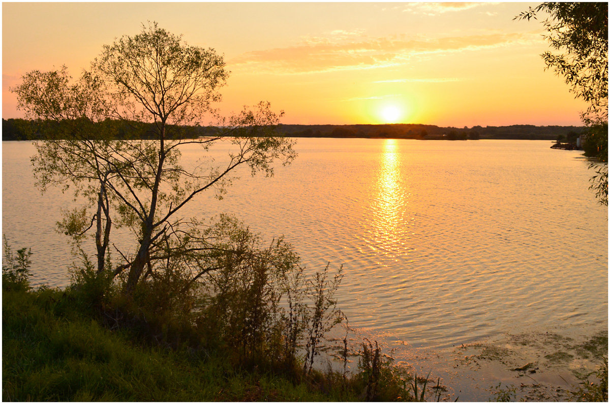
[[[152,271],[131,295],[83,256],[65,291],[30,290],[29,251],[5,254],[2,398],[7,401],[360,401],[418,397],[408,373],[368,342],[356,373],[314,366],[345,317],[342,269],[307,276],[281,240],[239,235],[193,282]],[[256,248],[255,248],[256,247]],[[415,379],[417,389],[417,379]],[[421,397],[424,395],[422,393]]]

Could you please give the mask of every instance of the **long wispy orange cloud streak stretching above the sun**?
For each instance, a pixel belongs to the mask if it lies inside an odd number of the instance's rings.
[[[341,36],[343,35],[343,36]],[[426,39],[403,35],[368,38],[358,33],[304,38],[300,45],[246,52],[229,60],[231,70],[306,74],[395,67],[414,56],[478,51],[539,41],[538,34],[492,32]]]

